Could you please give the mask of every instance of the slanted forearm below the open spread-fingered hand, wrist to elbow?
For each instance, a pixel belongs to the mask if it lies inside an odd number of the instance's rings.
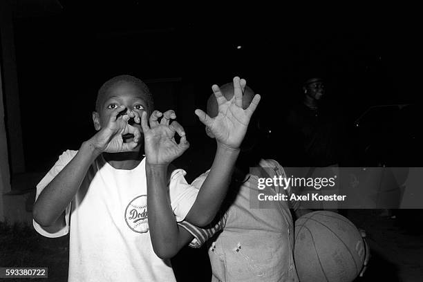
[[[189,222],[198,226],[212,222],[226,196],[239,151],[218,143],[212,168],[187,214]]]

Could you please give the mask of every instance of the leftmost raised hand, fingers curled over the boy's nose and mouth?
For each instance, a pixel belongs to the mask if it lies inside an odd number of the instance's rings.
[[[126,108],[120,106],[115,109],[109,118],[107,125],[100,129],[92,138],[94,146],[100,152],[106,153],[120,153],[126,151],[133,151],[138,146],[138,142],[141,138],[141,131],[138,127],[128,123],[131,118],[134,118],[135,122],[140,123],[140,117],[138,113],[133,111],[127,111],[126,115],[118,116]],[[124,142],[123,135],[132,134],[133,140],[131,142]]]

